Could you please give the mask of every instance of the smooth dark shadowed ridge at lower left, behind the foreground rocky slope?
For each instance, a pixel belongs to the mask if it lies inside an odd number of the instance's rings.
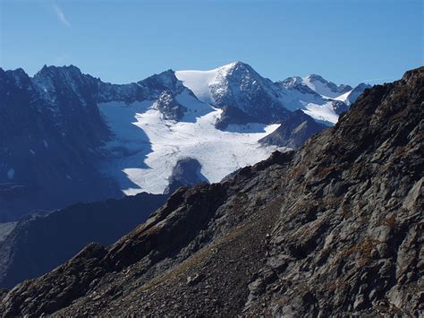
[[[51,271],[90,242],[114,243],[148,219],[166,197],[140,193],[24,217],[0,242],[0,286],[13,288],[24,279]]]

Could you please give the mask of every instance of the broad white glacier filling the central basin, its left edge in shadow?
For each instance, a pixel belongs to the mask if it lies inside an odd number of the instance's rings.
[[[180,122],[165,120],[152,100],[98,105],[114,132],[102,170],[118,180],[123,193],[163,193],[179,159],[198,159],[200,173],[215,183],[238,168],[267,159],[275,150],[286,150],[258,142],[279,125],[232,125],[229,131],[220,131],[215,123],[221,109],[188,94],[176,99],[188,108]]]

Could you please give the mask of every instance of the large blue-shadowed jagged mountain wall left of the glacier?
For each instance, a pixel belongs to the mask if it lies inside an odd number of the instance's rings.
[[[76,67],[0,70],[0,221],[122,195],[96,169],[108,130],[93,85]]]

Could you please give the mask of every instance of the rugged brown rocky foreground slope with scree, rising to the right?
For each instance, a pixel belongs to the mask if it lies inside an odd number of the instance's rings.
[[[417,314],[424,68],[366,90],[301,150],[180,188],[114,245],[21,283],[18,314]]]

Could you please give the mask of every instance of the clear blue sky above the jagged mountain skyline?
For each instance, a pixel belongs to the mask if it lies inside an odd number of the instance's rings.
[[[392,82],[424,64],[422,0],[0,0],[0,66],[106,82],[240,60],[282,80]]]

